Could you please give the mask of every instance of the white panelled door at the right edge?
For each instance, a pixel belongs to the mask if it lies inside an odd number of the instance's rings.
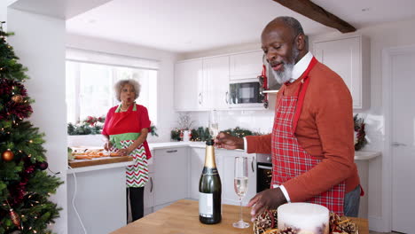
[[[392,67],[392,230],[415,230],[415,51],[394,55]]]

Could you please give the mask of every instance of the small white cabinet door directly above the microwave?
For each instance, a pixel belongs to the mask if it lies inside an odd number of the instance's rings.
[[[230,56],[230,80],[252,79],[262,73],[262,51],[249,51]]]

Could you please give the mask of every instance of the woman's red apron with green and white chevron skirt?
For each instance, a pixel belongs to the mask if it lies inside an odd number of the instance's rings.
[[[121,105],[115,110],[113,117],[108,122],[109,138],[113,144],[111,152],[128,148],[140,136],[138,132],[111,134],[112,129],[128,129],[129,125],[139,124],[139,115],[135,112],[137,112],[135,103],[129,106],[129,110],[126,112],[121,112]],[[129,156],[133,157],[134,165],[126,168],[127,187],[143,187],[148,181],[148,163],[145,144],[140,144],[134,151],[129,153]]]

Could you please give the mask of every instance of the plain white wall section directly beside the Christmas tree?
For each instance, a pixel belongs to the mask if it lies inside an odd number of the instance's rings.
[[[67,106],[65,104],[65,21],[9,9],[9,38],[20,63],[30,77],[25,83],[28,96],[35,99],[29,121],[46,134],[49,168],[67,180]],[[59,187],[51,200],[64,210],[53,230],[67,233],[67,186]]]

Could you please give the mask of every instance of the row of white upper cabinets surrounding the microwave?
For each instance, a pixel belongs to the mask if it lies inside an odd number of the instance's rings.
[[[265,109],[262,104],[238,107],[229,104],[230,83],[258,82],[262,51],[179,61],[175,70],[176,111]]]

